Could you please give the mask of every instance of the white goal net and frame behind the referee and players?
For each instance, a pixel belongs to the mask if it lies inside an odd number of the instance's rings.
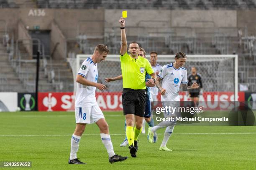
[[[76,75],[82,62],[92,55],[77,55],[76,58],[69,58],[74,77],[74,95],[76,92]],[[105,78],[121,75],[119,55],[108,55],[105,61],[97,64],[98,82],[105,84],[106,94],[119,94],[123,90],[123,81],[105,83]],[[149,60],[149,55],[147,56]],[[164,66],[174,62],[174,55],[158,55],[157,63]],[[187,55],[184,65],[187,74],[191,67],[197,68],[197,73],[202,75],[203,95],[200,100],[223,100],[220,94],[228,94],[229,101],[238,100],[238,55]],[[100,90],[96,92],[100,93]],[[181,100],[189,100],[186,92],[181,92]],[[102,93],[104,95],[104,92]],[[120,96],[119,96],[120,97]],[[108,100],[103,96],[104,100]],[[158,97],[160,99],[160,95]],[[109,100],[112,98],[110,97]],[[98,101],[99,102],[99,101]],[[105,101],[113,103],[113,101]],[[74,109],[74,108],[73,108]]]

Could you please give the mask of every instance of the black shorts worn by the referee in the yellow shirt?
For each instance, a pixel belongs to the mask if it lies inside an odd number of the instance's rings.
[[[146,108],[146,90],[123,89],[123,115],[134,114],[144,117]]]

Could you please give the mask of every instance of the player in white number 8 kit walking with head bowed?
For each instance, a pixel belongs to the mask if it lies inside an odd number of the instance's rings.
[[[114,163],[127,159],[127,157],[115,154],[109,135],[108,123],[100,107],[97,105],[95,97],[96,88],[99,90],[105,90],[106,88],[105,85],[97,83],[97,63],[104,61],[109,52],[107,46],[103,44],[97,45],[92,57],[88,57],[87,60],[84,60],[77,73],[77,91],[75,98],[75,119],[77,125],[71,138],[69,164],[85,164],[77,159],[77,151],[85,126],[94,122],[96,122],[96,125],[100,128],[100,138],[108,152],[109,162]]]

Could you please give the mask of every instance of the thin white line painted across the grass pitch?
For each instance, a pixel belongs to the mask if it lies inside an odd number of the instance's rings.
[[[251,135],[256,134],[254,132],[248,132],[248,133],[173,133],[172,135]],[[99,136],[100,134],[84,134],[83,136]],[[110,134],[112,136],[120,136],[123,134]],[[146,135],[146,134],[142,134]],[[164,135],[164,133],[158,133],[157,135]],[[33,136],[72,136],[72,134],[69,135],[0,135],[0,137],[33,137]]]

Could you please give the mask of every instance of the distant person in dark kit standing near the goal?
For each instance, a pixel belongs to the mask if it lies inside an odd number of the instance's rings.
[[[197,73],[196,67],[191,68],[191,74],[187,78],[188,85],[192,85],[196,82],[199,85],[199,89],[192,89],[189,91],[189,97],[191,101],[195,102],[195,105],[198,105],[199,95],[202,94],[202,76]]]

